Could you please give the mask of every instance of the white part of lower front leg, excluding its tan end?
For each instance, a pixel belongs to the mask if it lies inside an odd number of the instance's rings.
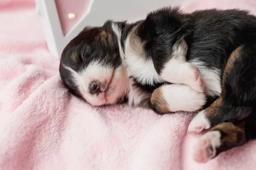
[[[172,84],[161,87],[161,94],[169,105],[169,111],[196,111],[206,102],[204,93],[193,90],[188,85]]]

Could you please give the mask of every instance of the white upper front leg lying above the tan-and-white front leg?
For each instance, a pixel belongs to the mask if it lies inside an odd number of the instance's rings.
[[[186,62],[185,40],[182,38],[176,42],[172,51],[172,55],[160,71],[160,77],[167,82],[189,85],[195,91],[203,92],[204,82],[200,71],[191,63]]]

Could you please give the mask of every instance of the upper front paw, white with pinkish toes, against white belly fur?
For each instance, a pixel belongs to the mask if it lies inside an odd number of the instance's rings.
[[[201,73],[197,67],[187,62],[187,82],[186,85],[189,85],[192,89],[198,92],[204,92],[204,81],[201,78]]]

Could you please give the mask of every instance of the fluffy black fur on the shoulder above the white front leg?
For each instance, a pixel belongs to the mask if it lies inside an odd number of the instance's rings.
[[[140,25],[138,36],[146,41],[146,57],[151,57],[160,74],[163,64],[172,54],[172,46],[183,36],[191,36],[193,18],[179,8],[163,8],[148,14]]]

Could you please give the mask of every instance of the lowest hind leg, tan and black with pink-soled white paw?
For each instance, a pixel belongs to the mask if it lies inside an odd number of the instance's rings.
[[[239,123],[223,122],[205,133],[193,149],[193,159],[205,163],[219,153],[247,142],[244,133],[244,121]]]

